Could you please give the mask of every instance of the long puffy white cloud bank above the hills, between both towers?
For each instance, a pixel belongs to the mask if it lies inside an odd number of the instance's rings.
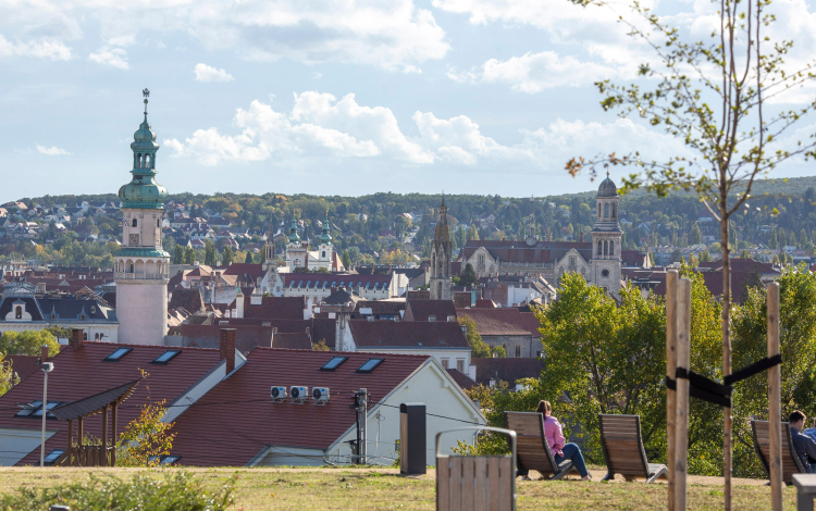
[[[482,133],[466,115],[440,119],[416,112],[411,121],[419,136],[406,135],[391,109],[361,105],[351,94],[338,100],[306,91],[295,95],[289,112],[260,101],[238,109],[233,122],[238,133],[211,127],[164,145],[174,157],[196,158],[206,165],[314,159],[336,163],[337,158],[356,158],[378,165],[502,169],[526,175],[560,171],[573,157],[597,153],[640,151],[644,159],[685,153],[672,137],[622,119],[609,124],[559,119],[545,128],[520,130],[509,145]]]

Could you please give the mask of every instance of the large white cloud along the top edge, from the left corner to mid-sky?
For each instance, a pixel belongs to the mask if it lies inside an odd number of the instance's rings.
[[[79,27],[92,23],[111,47],[144,41],[147,30],[150,37],[175,33],[246,60],[351,63],[408,73],[449,49],[431,11],[415,0],[39,0],[14,9],[0,5],[0,32],[8,26],[23,37],[46,30],[35,20],[48,23],[48,34],[58,40],[81,38]]]

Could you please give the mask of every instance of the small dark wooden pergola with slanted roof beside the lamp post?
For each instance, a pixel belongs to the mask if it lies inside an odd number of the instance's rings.
[[[116,465],[116,411],[119,406],[136,390],[141,379],[134,379],[119,387],[103,390],[78,401],[51,409],[51,414],[60,421],[67,421],[67,449],[55,464],[63,466],[115,466]],[[111,412],[109,426],[108,412]],[[84,445],[84,420],[102,414],[102,445]],[[74,446],[74,421],[76,421],[77,445]],[[108,431],[112,429],[110,441]],[[110,445],[109,445],[110,444]]]

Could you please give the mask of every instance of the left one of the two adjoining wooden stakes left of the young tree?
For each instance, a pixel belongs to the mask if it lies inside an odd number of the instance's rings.
[[[666,375],[675,379],[677,371],[677,270],[666,273]],[[675,390],[666,388],[666,466],[669,471],[669,511],[675,510]]]

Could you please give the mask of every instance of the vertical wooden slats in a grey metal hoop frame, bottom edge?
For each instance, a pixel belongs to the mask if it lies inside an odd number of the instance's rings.
[[[510,437],[510,456],[443,456],[442,435],[492,431]],[[516,511],[516,434],[500,427],[461,427],[436,434],[437,511]]]

